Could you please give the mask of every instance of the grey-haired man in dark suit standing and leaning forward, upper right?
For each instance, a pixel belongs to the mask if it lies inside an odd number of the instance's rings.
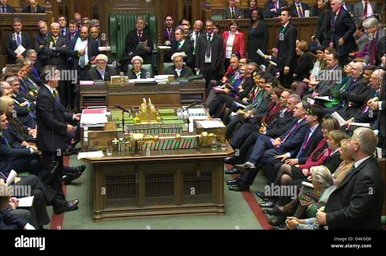
[[[335,47],[339,53],[339,63],[343,67],[347,64],[349,53],[356,49],[354,32],[356,26],[349,12],[342,6],[342,0],[331,2],[331,41],[330,47]]]

